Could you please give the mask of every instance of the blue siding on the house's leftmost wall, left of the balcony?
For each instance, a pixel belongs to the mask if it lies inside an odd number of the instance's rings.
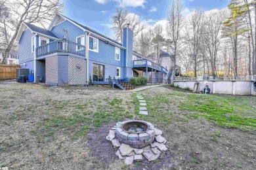
[[[18,56],[20,59],[20,63],[25,63],[33,60],[33,52],[32,52],[32,32],[30,29],[26,29],[23,31],[22,36],[20,37],[20,41],[18,44]]]

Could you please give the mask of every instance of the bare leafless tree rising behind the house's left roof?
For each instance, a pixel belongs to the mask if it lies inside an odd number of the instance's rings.
[[[5,0],[2,2],[3,7],[8,7],[8,14],[4,18],[1,17],[0,27],[3,32],[6,32],[5,35],[11,33],[11,38],[5,37],[6,45],[2,63],[6,63],[7,54],[14,44],[22,22],[39,23],[45,27],[51,22],[54,14],[60,12],[63,7],[60,0]]]

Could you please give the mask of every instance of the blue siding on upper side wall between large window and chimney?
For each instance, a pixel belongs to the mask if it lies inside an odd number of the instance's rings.
[[[98,39],[98,52],[89,50],[89,60],[123,67],[123,50],[120,49],[120,61],[116,60],[116,46]]]

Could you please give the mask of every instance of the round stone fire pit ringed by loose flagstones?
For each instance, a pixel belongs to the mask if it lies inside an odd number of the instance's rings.
[[[133,161],[142,161],[143,156],[148,161],[156,160],[161,152],[165,152],[167,141],[161,134],[162,131],[150,122],[128,120],[112,127],[106,139],[118,148],[118,158],[125,159],[125,164],[129,165]]]

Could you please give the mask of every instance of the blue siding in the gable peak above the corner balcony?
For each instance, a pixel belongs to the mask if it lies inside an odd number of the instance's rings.
[[[63,29],[68,31],[68,35],[63,31]],[[77,27],[67,20],[58,25],[55,25],[51,32],[53,32],[54,35],[56,35],[59,39],[63,39],[63,35],[66,35],[70,41],[74,42],[76,42],[76,37],[85,35],[83,29]]]

